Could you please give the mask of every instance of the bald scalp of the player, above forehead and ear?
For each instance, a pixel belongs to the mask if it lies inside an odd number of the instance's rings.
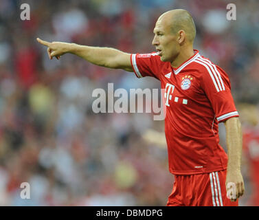
[[[157,21],[169,26],[173,34],[176,34],[179,30],[183,30],[187,41],[193,43],[196,36],[196,28],[192,16],[187,10],[170,10],[161,14]]]

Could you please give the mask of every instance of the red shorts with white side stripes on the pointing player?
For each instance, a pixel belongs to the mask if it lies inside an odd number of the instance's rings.
[[[197,175],[175,175],[166,206],[238,206],[227,198],[226,170]]]

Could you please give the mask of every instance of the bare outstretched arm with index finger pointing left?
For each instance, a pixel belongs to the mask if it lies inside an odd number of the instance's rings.
[[[120,50],[109,47],[89,47],[76,43],[50,43],[41,39],[37,39],[37,41],[38,43],[47,46],[47,53],[49,54],[50,59],[54,56],[59,59],[63,54],[70,53],[80,56],[95,65],[133,72],[131,67],[131,54],[121,52]]]

